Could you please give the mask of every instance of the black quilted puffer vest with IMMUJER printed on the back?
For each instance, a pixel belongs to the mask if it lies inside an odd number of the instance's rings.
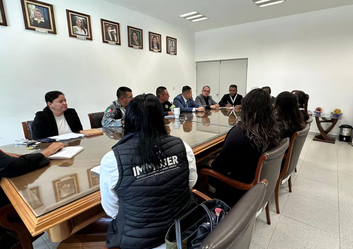
[[[108,228],[108,248],[157,247],[174,219],[196,206],[183,141],[162,137],[157,167],[139,165],[138,143],[139,137],[129,134],[112,147],[119,170],[119,212]]]

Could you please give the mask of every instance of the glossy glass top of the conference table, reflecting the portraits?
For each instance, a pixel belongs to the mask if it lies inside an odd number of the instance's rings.
[[[224,117],[222,122],[225,125],[212,124],[217,121],[218,115],[222,117],[222,120]],[[165,119],[164,123],[170,135],[180,137],[191,148],[226,134],[231,129],[231,126],[227,125],[227,123],[233,122],[233,120],[228,122],[229,117],[224,116],[222,112],[215,112],[207,117],[204,117],[204,115],[201,117],[188,117],[184,120]],[[211,117],[217,118],[211,119]],[[203,118],[204,120],[209,118],[210,122],[202,122]],[[102,130],[104,134],[90,138],[79,137],[60,141],[65,146],[84,147],[84,150],[74,156],[74,158],[50,160],[50,165],[46,167],[23,176],[9,178],[11,184],[36,217],[99,190],[99,175],[90,170],[100,165],[102,157],[122,138],[124,129],[121,127],[110,127],[100,128],[99,130]],[[47,146],[48,144],[41,143],[40,149],[44,149]],[[26,149],[25,146],[16,144],[2,146],[1,149],[5,152],[19,154],[32,152],[32,150]]]

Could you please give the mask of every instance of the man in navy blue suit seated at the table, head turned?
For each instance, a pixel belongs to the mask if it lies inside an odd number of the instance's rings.
[[[175,107],[180,107],[181,112],[204,112],[205,108],[201,105],[198,105],[192,99],[192,90],[191,87],[186,85],[181,90],[181,94],[177,95],[173,100],[173,105]]]

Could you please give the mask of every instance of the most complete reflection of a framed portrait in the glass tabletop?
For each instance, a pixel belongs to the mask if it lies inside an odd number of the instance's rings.
[[[77,174],[62,177],[53,181],[55,200],[59,202],[80,192]]]

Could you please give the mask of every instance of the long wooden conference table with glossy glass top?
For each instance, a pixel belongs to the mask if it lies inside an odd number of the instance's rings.
[[[180,137],[193,149],[197,162],[219,151],[237,116],[227,109],[183,113],[165,118],[168,134]],[[19,177],[2,178],[0,185],[32,236],[47,231],[60,242],[104,216],[99,175],[91,172],[123,136],[121,127],[99,128],[103,135],[61,140],[66,146],[83,146],[71,159],[50,160],[50,165]],[[48,144],[41,143],[39,149]],[[24,145],[1,146],[5,152],[28,154]],[[38,150],[39,150],[38,149]]]

